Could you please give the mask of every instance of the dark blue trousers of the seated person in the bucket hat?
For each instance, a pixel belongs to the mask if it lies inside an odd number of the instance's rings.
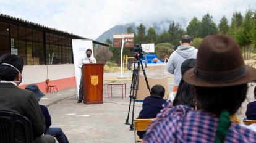
[[[61,128],[48,128],[45,130],[45,134],[49,134],[54,136],[59,143],[68,143],[69,140],[67,139],[66,135],[63,133]]]

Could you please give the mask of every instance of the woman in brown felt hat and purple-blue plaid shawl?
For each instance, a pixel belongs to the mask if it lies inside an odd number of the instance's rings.
[[[256,80],[256,69],[244,64],[240,47],[227,35],[210,35],[198,48],[195,67],[183,80],[195,86],[195,107],[166,107],[143,142],[256,142],[256,132],[229,120]]]

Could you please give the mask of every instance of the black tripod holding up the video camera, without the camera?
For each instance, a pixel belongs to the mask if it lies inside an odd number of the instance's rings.
[[[136,67],[137,65],[137,67]],[[129,110],[128,110],[128,115],[127,115],[127,119],[126,119],[126,123],[127,125],[130,125],[130,131],[134,130],[134,106],[135,106],[135,99],[137,97],[137,91],[138,91],[138,86],[139,86],[139,75],[140,75],[140,65],[142,66],[142,71],[143,71],[143,75],[147,84],[147,88],[148,91],[151,94],[150,91],[150,87],[148,84],[148,79],[147,79],[147,75],[145,73],[145,70],[143,68],[143,64],[142,64],[142,60],[140,58],[136,58],[134,61],[134,71],[132,73],[132,84],[130,86],[130,104],[129,104]],[[130,115],[130,107],[132,104],[132,100],[133,100],[133,107],[132,107],[132,123],[129,123],[129,115]]]

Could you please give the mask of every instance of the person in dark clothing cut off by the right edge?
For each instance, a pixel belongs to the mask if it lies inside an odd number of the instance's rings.
[[[254,88],[254,99],[256,99],[256,87]],[[256,120],[256,100],[247,104],[245,115],[247,120]]]

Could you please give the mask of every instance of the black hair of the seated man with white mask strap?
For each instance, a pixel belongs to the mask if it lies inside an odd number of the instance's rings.
[[[13,65],[20,71],[20,73],[22,73],[24,66],[23,60],[18,55],[4,54],[0,57],[0,80],[14,81],[19,74],[15,68],[10,67],[9,65],[2,65],[2,63]]]

